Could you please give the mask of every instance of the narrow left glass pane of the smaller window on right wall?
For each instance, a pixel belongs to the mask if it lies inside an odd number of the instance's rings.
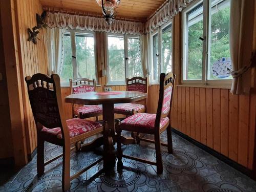
[[[159,75],[159,35],[153,36],[153,80],[158,80]]]

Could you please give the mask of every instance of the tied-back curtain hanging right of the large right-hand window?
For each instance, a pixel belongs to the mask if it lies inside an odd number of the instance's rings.
[[[232,0],[230,2],[230,55],[232,61],[232,94],[250,92],[250,60],[253,42],[255,0]]]

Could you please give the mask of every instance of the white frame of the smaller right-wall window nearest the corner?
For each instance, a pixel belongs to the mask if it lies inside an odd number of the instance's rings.
[[[159,77],[160,74],[162,73],[162,59],[163,59],[163,49],[162,49],[162,36],[163,36],[163,30],[167,27],[171,26],[172,27],[172,71],[174,69],[174,41],[173,41],[173,19],[170,19],[169,22],[165,23],[164,25],[162,25],[161,27],[159,27],[157,30],[155,30],[152,34],[151,34],[151,42],[152,42],[152,75],[151,75],[151,80],[152,80],[152,84],[159,84]],[[153,72],[154,72],[154,47],[153,47],[153,37],[158,34],[158,53],[159,53],[159,59],[158,59],[158,79],[155,80],[153,79]]]

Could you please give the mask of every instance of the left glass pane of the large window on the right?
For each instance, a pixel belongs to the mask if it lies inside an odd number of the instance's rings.
[[[200,4],[186,14],[185,28],[185,65],[183,74],[185,80],[202,79],[203,59],[203,5]]]

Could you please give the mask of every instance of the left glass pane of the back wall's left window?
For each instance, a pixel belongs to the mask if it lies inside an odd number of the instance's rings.
[[[72,48],[70,33],[65,33],[64,35],[63,52],[63,65],[59,76],[61,82],[69,82],[69,79],[73,79]]]

